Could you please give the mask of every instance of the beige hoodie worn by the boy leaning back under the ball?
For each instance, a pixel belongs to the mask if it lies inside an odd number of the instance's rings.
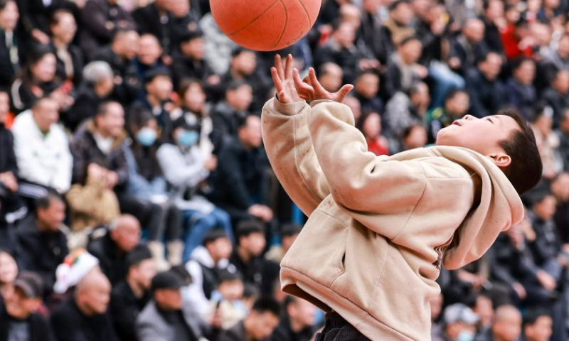
[[[309,216],[282,260],[282,290],[335,310],[371,340],[430,340],[441,262],[457,269],[482,256],[522,219],[519,195],[479,153],[375,156],[349,107],[312,105],[270,99],[262,112],[272,167]]]

